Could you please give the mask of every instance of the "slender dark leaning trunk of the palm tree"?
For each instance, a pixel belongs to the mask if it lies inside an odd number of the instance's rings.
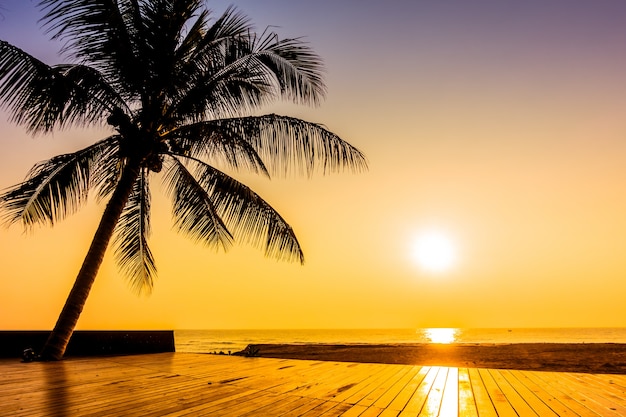
[[[102,264],[102,259],[113,236],[115,226],[124,210],[138,175],[139,163],[129,161],[124,167],[113,195],[104,209],[102,219],[91,241],[91,246],[83,261],[83,265],[78,272],[74,286],[65,301],[65,306],[61,310],[52,333],[40,353],[41,359],[60,360],[63,358],[67,344],[89,296],[91,286]]]

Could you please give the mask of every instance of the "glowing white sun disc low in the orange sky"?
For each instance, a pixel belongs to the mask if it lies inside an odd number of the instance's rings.
[[[444,233],[431,231],[420,235],[412,253],[420,267],[430,272],[444,272],[456,262],[456,248]]]

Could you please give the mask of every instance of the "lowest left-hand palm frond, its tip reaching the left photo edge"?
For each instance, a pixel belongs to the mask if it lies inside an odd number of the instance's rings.
[[[100,141],[81,151],[58,155],[36,164],[26,180],[0,194],[7,224],[54,224],[76,212],[95,186],[92,172],[110,162],[111,142]]]

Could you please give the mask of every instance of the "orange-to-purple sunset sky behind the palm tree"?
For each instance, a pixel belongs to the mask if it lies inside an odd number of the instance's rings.
[[[61,62],[35,2],[0,4],[0,39]],[[157,187],[153,293],[109,253],[79,329],[626,327],[626,2],[235,5],[324,59],[320,106],[267,113],[323,123],[369,170],[240,177],[292,225],[303,266],[194,245]],[[0,189],[106,134],[33,138],[0,113]],[[54,326],[103,208],[0,229],[0,329]],[[454,256],[433,271],[414,248],[435,232]]]

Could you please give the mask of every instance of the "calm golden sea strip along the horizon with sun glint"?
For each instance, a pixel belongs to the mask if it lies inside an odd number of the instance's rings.
[[[237,352],[251,343],[626,343],[626,328],[176,330],[178,352]]]

